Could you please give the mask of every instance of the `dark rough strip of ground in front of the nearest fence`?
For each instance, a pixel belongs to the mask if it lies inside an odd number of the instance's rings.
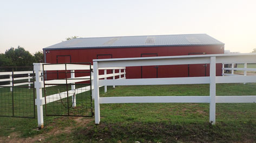
[[[255,142],[253,131],[255,124],[244,124],[245,128],[237,129],[242,133],[235,134],[228,130],[230,125],[205,124],[168,124],[168,123],[101,123],[93,128],[75,131],[81,142]],[[252,132],[250,132],[252,131]],[[93,138],[92,138],[93,137]],[[115,140],[111,140],[115,139]],[[119,141],[117,141],[119,142]]]

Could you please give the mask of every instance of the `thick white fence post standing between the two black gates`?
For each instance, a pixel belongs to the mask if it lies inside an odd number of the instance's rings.
[[[42,63],[33,63],[34,65],[34,71],[36,74],[36,82],[35,82],[35,88],[36,88],[36,105],[37,105],[37,123],[38,128],[43,128],[43,96],[42,96],[42,88],[43,88],[43,82],[42,78],[40,77],[42,74]]]

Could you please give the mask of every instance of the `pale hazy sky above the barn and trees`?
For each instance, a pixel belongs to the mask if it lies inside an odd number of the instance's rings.
[[[67,37],[206,33],[225,49],[256,48],[256,1],[0,1],[0,53]]]

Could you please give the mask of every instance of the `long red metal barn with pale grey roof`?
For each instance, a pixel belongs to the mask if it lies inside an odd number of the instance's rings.
[[[207,34],[77,38],[43,48],[47,63],[93,62],[93,59],[224,54],[224,43]],[[221,75],[221,65],[216,66]],[[209,66],[127,67],[127,78],[209,76]]]

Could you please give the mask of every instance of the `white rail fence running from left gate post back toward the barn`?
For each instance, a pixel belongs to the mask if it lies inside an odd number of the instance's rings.
[[[93,68],[93,66],[91,66]],[[107,74],[107,70],[111,69],[113,70],[113,73]],[[118,73],[115,73],[115,70],[119,69]],[[123,72],[121,72],[121,69],[123,69]],[[44,71],[51,71],[51,70],[70,70],[71,71],[71,78],[68,78],[67,81],[65,80],[47,80],[43,81],[43,70]],[[44,98],[42,96],[42,88],[44,88],[44,83],[45,83],[45,88],[47,87],[52,87],[55,86],[54,84],[65,84],[66,82],[69,83],[76,83],[76,82],[83,82],[83,81],[88,81],[89,79],[83,79],[83,78],[90,78],[90,76],[80,76],[80,77],[75,77],[74,70],[90,70],[90,66],[88,65],[78,65],[78,64],[56,64],[56,65],[44,65],[43,63],[34,63],[34,71],[36,74],[36,81],[35,81],[35,88],[36,88],[36,106],[37,106],[37,120],[38,120],[38,127],[43,128],[43,105],[48,104],[51,102],[58,101],[62,98],[67,98],[67,95],[72,96],[73,94],[80,94],[81,92],[85,92],[90,90],[90,86],[87,87],[82,87],[82,88],[77,88],[75,85],[71,85],[71,90],[68,91],[69,94],[67,94],[67,91],[58,93],[58,94],[53,94],[47,96],[47,98]],[[99,78],[104,78],[107,79],[107,77],[113,77],[115,79],[115,76],[119,76],[117,80],[125,78],[125,67],[108,67],[108,68],[100,68],[100,70],[104,70],[103,75],[99,75]],[[93,73],[91,73],[93,75]],[[121,75],[124,75],[124,77],[121,78]],[[93,87],[93,76],[91,77],[91,90],[94,89]],[[52,85],[46,85],[46,84],[52,84]],[[107,85],[101,85],[101,87],[105,87],[105,92],[107,92]],[[114,85],[113,85],[114,87]],[[74,91],[76,92],[74,93]],[[92,98],[94,96],[92,95]],[[45,103],[46,99],[46,103]],[[76,106],[76,97],[73,97],[73,107]]]

